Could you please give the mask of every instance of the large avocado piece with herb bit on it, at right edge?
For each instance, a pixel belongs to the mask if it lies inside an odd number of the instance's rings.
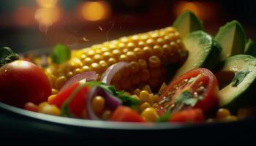
[[[216,76],[220,87],[224,86],[219,90],[220,107],[227,107],[235,113],[240,107],[256,104],[256,58],[252,55],[227,58],[219,65]],[[228,78],[230,81],[225,82]]]

